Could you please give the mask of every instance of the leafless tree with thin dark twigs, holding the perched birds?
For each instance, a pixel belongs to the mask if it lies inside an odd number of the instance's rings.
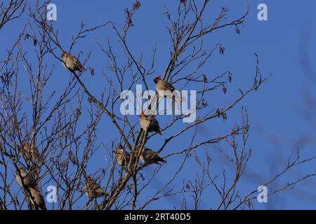
[[[125,9],[124,25],[108,21],[87,28],[84,22],[81,22],[78,33],[72,36],[70,48],[62,45],[58,29],[55,29],[53,22],[46,20],[48,2],[40,5],[39,1],[36,1],[34,5],[29,5],[28,15],[25,15],[28,18],[27,23],[11,50],[8,50],[6,59],[0,64],[0,208],[43,209],[41,200],[34,195],[34,189],[44,196],[45,190],[41,187],[49,183],[57,190],[57,203],[54,203],[51,209],[146,209],[157,200],[174,195],[183,195],[183,209],[187,209],[187,195],[192,195],[194,207],[199,209],[202,194],[207,188],[213,188],[218,193],[217,209],[251,209],[251,201],[256,198],[256,189],[249,190],[244,196],[240,195],[238,190],[238,183],[251,158],[251,150],[246,145],[250,127],[246,109],[242,107],[241,125],[232,127],[228,133],[216,133],[216,136],[208,136],[203,141],[199,141],[197,135],[203,125],[209,125],[218,118],[223,119],[223,122],[227,120],[229,113],[232,113],[245,97],[259,90],[268,77],[261,75],[259,58],[255,55],[255,72],[251,85],[244,90],[237,88],[239,95],[232,94],[233,98],[226,106],[209,106],[209,92],[228,94],[228,86],[231,86],[229,83],[233,82],[234,77],[230,71],[216,75],[201,72],[212,55],[216,52],[221,55],[225,53],[225,47],[220,43],[209,50],[205,49],[205,37],[228,27],[233,27],[239,34],[239,27],[249,13],[246,6],[245,12],[239,18],[230,18],[228,8],[221,8],[215,20],[206,22],[203,20],[204,13],[210,2],[179,1],[178,8],[166,8],[164,11],[169,21],[167,31],[171,40],[171,52],[161,78],[169,85],[176,86],[178,90],[195,86],[198,117],[195,122],[183,126],[179,123],[182,123],[185,115],[173,115],[169,123],[161,126],[162,132],[170,131],[172,134],[162,138],[162,144],[157,146],[151,155],[159,155],[159,161],[169,160],[177,155],[183,155],[183,159],[179,166],[170,172],[169,180],[163,183],[154,195],[146,196],[145,200],[143,193],[150,183],[157,179],[160,169],[168,166],[168,163],[157,166],[149,179],[143,179],[143,172],[148,164],[143,164],[140,160],[148,151],[146,144],[152,141],[157,133],[149,133],[149,129],[143,130],[138,121],[135,122],[135,117],[119,113],[121,102],[124,101],[119,93],[123,90],[134,90],[136,84],[142,84],[149,90],[150,82],[157,75],[155,47],[152,50],[151,63],[146,64],[143,62],[142,53],[138,57],[136,55],[139,55],[139,52],[131,50],[132,43],[129,43],[127,38],[134,26],[134,15],[141,8],[140,1]],[[4,22],[1,23],[0,29],[5,23],[14,18],[18,19],[25,13],[26,4],[25,1],[16,1],[11,3],[7,10],[2,10],[6,13],[2,15]],[[1,4],[3,5],[4,3]],[[105,26],[112,27],[119,48],[113,48],[110,38],[107,43],[96,43],[109,63],[108,73],[104,73],[108,87],[105,87],[103,94],[93,94],[93,87],[86,85],[81,76],[82,72],[71,69],[68,72],[68,83],[61,84],[64,89],[51,90],[49,84],[51,77],[55,76],[55,64],[63,63],[67,66],[60,58],[61,53],[72,53],[74,46],[79,45],[88,34]],[[23,50],[23,45],[29,39],[33,41],[34,52]],[[82,55],[84,53],[80,52],[78,58]],[[118,59],[118,55],[121,59]],[[90,52],[83,57],[82,65],[86,67]],[[88,69],[93,75],[94,69]],[[22,76],[25,73],[27,77]],[[111,146],[103,146],[97,132],[100,120],[105,119],[112,122],[112,127],[107,127],[113,137]],[[159,116],[156,116],[156,119],[159,120]],[[165,153],[171,142],[183,141],[187,134],[191,138],[185,139],[188,142],[185,148]],[[221,173],[222,181],[218,181],[220,174],[212,173],[209,149],[222,141],[226,142],[228,147],[218,150],[235,167],[232,180],[226,176],[226,169]],[[239,141],[241,144],[238,144]],[[124,148],[122,154],[117,151],[120,145]],[[103,165],[91,174],[88,172],[88,166],[93,162],[93,155],[100,150],[105,150],[105,156],[108,158],[105,168]],[[118,155],[124,160],[120,162],[121,166],[117,162]],[[201,174],[191,180],[183,180],[181,186],[174,186],[191,155],[194,155],[195,165],[199,167]],[[314,158],[301,159],[298,153],[296,159],[289,160],[283,172],[272,176],[265,186],[269,186],[289,169]],[[29,174],[34,174],[32,186],[27,186],[22,181],[22,186],[16,187],[15,176],[25,179],[25,176],[18,172],[21,166]],[[311,176],[315,176],[315,173],[306,174],[301,179],[270,192],[270,195]]]

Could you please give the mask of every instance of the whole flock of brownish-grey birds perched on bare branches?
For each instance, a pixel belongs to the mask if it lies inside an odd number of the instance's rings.
[[[63,51],[62,52],[62,65],[65,66],[66,69],[75,72],[83,72],[84,66],[81,65],[77,57],[70,55],[70,53]],[[154,83],[156,85],[156,91],[158,93],[162,91],[169,90],[173,92],[176,90],[170,83],[162,80],[159,76],[154,78]],[[145,115],[144,113],[140,114],[140,127],[144,132],[156,132],[157,134],[162,135],[161,129],[159,127],[159,123],[154,118],[154,115]],[[150,148],[141,148],[138,146],[136,150],[142,151],[140,153],[140,160],[144,163],[144,167],[147,165],[158,164],[159,162],[166,161],[160,158],[157,153],[152,151]],[[39,153],[37,151],[37,147],[30,146],[25,142],[22,142],[21,146],[19,147],[20,153],[25,158],[26,161],[32,161],[35,164],[36,160],[39,159]],[[117,163],[123,167],[127,167],[131,160],[131,154],[127,153],[121,144],[117,147],[115,153],[115,159]],[[29,164],[28,164],[29,165]],[[27,172],[23,166],[18,167],[15,180],[17,181],[18,185],[25,189],[25,193],[28,197],[31,198],[31,203],[35,209],[46,210],[46,204],[43,195],[41,195],[41,191],[37,186],[37,172],[38,170],[33,170],[32,172]],[[84,193],[88,196],[89,201],[96,199],[98,197],[107,196],[107,193],[100,187],[96,181],[93,181],[90,176],[86,176],[86,181],[84,183]]]

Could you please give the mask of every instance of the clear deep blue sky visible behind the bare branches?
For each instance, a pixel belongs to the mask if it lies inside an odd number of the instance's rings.
[[[131,6],[133,1],[89,1],[88,3],[88,1],[56,0],[53,3],[58,7],[58,21],[55,22],[55,27],[60,29],[60,41],[63,47],[68,49],[72,41],[72,34],[76,34],[79,30],[81,20],[84,20],[87,27],[108,20],[112,20],[116,24],[122,24],[125,18],[124,8]],[[268,21],[260,22],[257,20],[257,6],[259,3],[268,5]],[[177,4],[178,1],[141,1],[140,10],[133,19],[135,27],[132,28],[129,35],[129,45],[136,55],[143,52],[146,58],[151,56],[152,48],[155,43],[157,44],[157,64],[155,66],[157,74],[164,70],[169,60],[171,48],[168,32],[165,28],[168,21],[163,15],[164,6],[167,6],[173,12]],[[230,8],[228,14],[230,18],[236,18],[245,9],[242,0],[211,1],[211,6],[206,10],[204,20],[212,21],[212,18],[220,11],[221,6]],[[277,174],[286,165],[287,157],[289,155],[295,156],[297,146],[302,149],[303,157],[316,153],[316,129],[312,127],[311,123],[305,119],[304,113],[302,113],[305,108],[304,95],[309,92],[310,96],[315,96],[315,85],[312,85],[310,80],[306,78],[299,60],[300,41],[304,25],[310,25],[311,40],[316,40],[316,24],[313,22],[315,21],[313,18],[315,6],[316,2],[312,0],[251,0],[249,1],[250,13],[246,18],[246,22],[243,27],[239,27],[241,34],[236,34],[235,28],[229,27],[220,29],[204,39],[205,47],[209,49],[216,43],[223,44],[225,55],[220,56],[216,52],[201,72],[206,73],[209,77],[227,70],[234,74],[232,85],[228,85],[228,95],[216,94],[216,96],[209,96],[210,106],[223,106],[234,97],[237,97],[239,93],[235,85],[243,89],[251,86],[256,69],[254,52],[260,57],[262,73],[266,76],[272,74],[268,82],[258,92],[246,97],[242,104],[239,104],[228,113],[228,120],[225,123],[223,123],[223,120],[213,120],[211,123],[204,125],[203,130],[199,132],[200,140],[207,137],[216,137],[218,134],[225,134],[232,125],[240,123],[241,106],[247,107],[251,119],[251,135],[248,146],[253,150],[253,157],[249,162],[248,171],[240,182],[239,189],[242,193],[255,190],[270,176]],[[8,41],[8,43],[12,43],[13,37],[20,31],[22,25],[23,23],[20,20],[13,22],[13,26],[10,25],[1,30],[0,36],[5,38],[1,42],[7,43]],[[87,75],[84,81],[87,87],[97,96],[104,88],[108,88],[102,72],[105,71],[109,76],[111,74],[107,71],[107,58],[98,50],[96,40],[106,46],[107,38],[112,39],[113,45],[117,44],[111,27],[105,27],[88,35],[83,41],[79,41],[73,49],[74,55],[77,55],[79,50],[84,52],[92,50],[88,66],[95,68],[96,76]],[[7,46],[1,45],[0,50],[3,51]],[[29,43],[25,50],[32,51],[32,43]],[[311,41],[308,45],[308,54],[312,65],[315,64],[315,52],[315,41]],[[67,82],[69,74],[59,62],[56,62],[54,76],[51,80],[52,89],[62,90],[64,86],[61,83]],[[154,83],[150,83],[150,85],[154,89]],[[216,98],[217,96],[218,98]],[[161,125],[164,126],[165,124],[164,119],[162,119]],[[117,134],[112,135],[114,132],[109,131],[109,125],[111,125],[110,120],[104,116],[98,134],[99,140],[103,141],[105,146],[109,146],[111,140],[118,138]],[[171,130],[165,134],[168,136],[174,132],[176,130]],[[308,142],[305,141],[306,139],[308,139]],[[154,137],[147,146],[157,148],[161,144],[161,139]],[[180,142],[171,142],[167,147],[168,150],[164,151],[162,155],[181,150],[185,146],[187,146],[185,139]],[[223,163],[224,158],[218,154],[216,146],[222,146],[229,150],[225,143],[209,147],[210,155],[213,157],[214,172],[220,174],[221,166],[224,166],[231,174],[233,172],[232,167],[227,163]],[[143,195],[144,198],[152,195],[152,191],[169,180],[170,171],[178,167],[180,159],[180,157],[174,157],[168,160],[167,165],[162,167],[145,195]],[[103,167],[104,152],[99,151],[94,160],[96,162],[91,163],[91,167],[89,167],[91,172]],[[154,167],[148,167],[144,175],[149,176],[152,169]],[[308,174],[313,170],[315,170],[315,163],[298,167],[298,169],[290,171],[287,176],[273,185],[272,189],[298,179],[303,174]],[[180,186],[182,179],[194,179],[197,171],[197,165],[191,158],[190,166],[183,169],[179,178],[171,186]],[[257,209],[316,209],[315,186],[316,180],[309,179],[298,184],[294,190],[287,190],[269,197],[266,204],[254,202],[254,205]],[[190,197],[187,197],[187,200],[187,205],[190,208]],[[216,208],[217,204],[218,196],[215,195],[215,192],[206,190],[203,195],[201,209]],[[169,197],[168,200],[159,200],[147,208],[173,209],[174,207],[180,208],[180,206],[181,197]]]

